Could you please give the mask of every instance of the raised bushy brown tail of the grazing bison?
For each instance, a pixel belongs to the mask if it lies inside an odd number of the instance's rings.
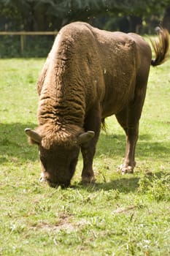
[[[163,29],[158,27],[158,39],[152,40],[152,48],[155,52],[155,59],[152,59],[151,65],[153,67],[161,65],[164,61],[166,61],[169,55],[169,31],[167,29]]]

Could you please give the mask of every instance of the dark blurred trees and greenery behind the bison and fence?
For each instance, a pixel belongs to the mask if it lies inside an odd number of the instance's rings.
[[[170,31],[170,0],[0,0],[0,31],[58,31],[75,20],[110,31]],[[45,57],[54,36],[0,36],[0,57]]]

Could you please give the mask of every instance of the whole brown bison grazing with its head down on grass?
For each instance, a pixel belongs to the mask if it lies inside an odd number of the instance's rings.
[[[37,82],[36,130],[26,129],[39,146],[42,180],[51,187],[70,184],[82,151],[82,182],[94,181],[93,157],[104,118],[115,114],[125,130],[122,173],[133,173],[135,147],[150,65],[166,60],[169,33],[158,31],[150,45],[137,34],[109,32],[88,23],[64,26]]]

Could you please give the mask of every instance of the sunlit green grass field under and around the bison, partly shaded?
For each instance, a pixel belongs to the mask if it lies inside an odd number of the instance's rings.
[[[96,184],[69,189],[39,183],[36,79],[45,59],[0,60],[0,255],[170,255],[170,60],[151,68],[136,169],[117,173],[125,136],[115,117],[101,131]]]

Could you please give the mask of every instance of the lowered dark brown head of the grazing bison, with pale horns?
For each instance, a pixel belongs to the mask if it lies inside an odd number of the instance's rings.
[[[74,175],[80,145],[88,142],[94,136],[94,132],[88,131],[72,138],[72,143],[64,141],[47,143],[46,136],[42,137],[32,129],[25,129],[31,143],[39,146],[39,159],[42,165],[40,181],[47,181],[50,187],[68,187]]]

